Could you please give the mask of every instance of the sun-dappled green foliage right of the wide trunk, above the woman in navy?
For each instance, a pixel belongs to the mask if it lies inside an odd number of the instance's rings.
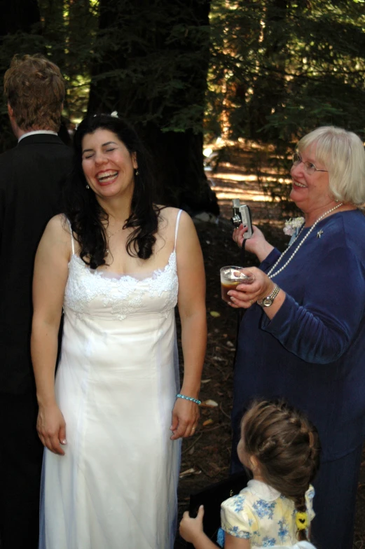
[[[338,125],[365,138],[362,1],[214,0],[211,28],[207,139],[260,141],[258,171],[280,174],[270,195],[286,199],[279,177],[310,130]]]

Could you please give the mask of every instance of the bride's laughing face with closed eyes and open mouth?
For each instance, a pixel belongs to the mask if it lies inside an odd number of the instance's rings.
[[[113,132],[100,128],[83,137],[82,166],[85,179],[97,197],[132,199],[136,156]]]

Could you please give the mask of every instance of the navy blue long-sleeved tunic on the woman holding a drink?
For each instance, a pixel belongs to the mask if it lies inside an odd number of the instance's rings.
[[[301,232],[277,269],[309,230]],[[268,272],[279,256],[274,249],[261,270]],[[322,462],[345,457],[364,438],[365,216],[351,210],[320,221],[273,281],[287,294],[275,317],[270,321],[254,305],[240,325],[233,472],[242,467],[235,452],[240,421],[256,397],[284,397],[306,412],[319,431]]]

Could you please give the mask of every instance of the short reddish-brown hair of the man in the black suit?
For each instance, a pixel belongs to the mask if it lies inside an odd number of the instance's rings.
[[[64,93],[60,69],[43,55],[15,55],[4,75],[4,95],[22,130],[58,132]]]

